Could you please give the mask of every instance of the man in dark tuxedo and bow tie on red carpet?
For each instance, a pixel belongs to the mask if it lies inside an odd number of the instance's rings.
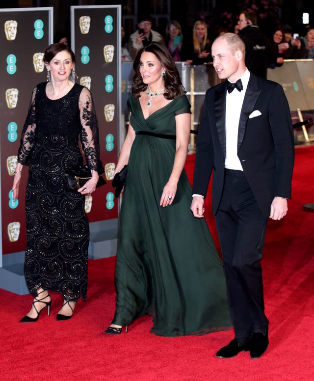
[[[267,219],[281,219],[288,211],[293,129],[282,86],[247,70],[240,37],[223,34],[211,54],[218,77],[228,80],[206,93],[191,210],[197,218],[204,216],[213,171],[212,210],[235,329],[235,339],[217,356],[250,351],[258,358],[268,346],[260,261]]]

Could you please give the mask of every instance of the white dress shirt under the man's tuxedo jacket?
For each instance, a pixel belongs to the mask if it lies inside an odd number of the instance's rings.
[[[246,69],[240,78],[243,90],[236,88],[226,95],[226,159],[225,168],[243,171],[240,160],[237,156],[237,135],[239,129],[240,114],[243,105],[244,95],[250,79],[250,72]],[[228,79],[229,81],[229,79]],[[231,82],[231,81],[229,81]]]

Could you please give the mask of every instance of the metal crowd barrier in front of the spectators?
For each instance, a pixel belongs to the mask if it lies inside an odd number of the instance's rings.
[[[191,131],[197,131],[200,123],[204,96],[209,87],[221,82],[212,63],[204,65],[185,65],[176,62],[191,104]],[[122,62],[122,113],[125,125],[128,124],[127,100],[131,92],[133,78],[133,62]],[[268,69],[267,79],[280,83],[285,91],[291,110],[293,123],[313,118],[314,114],[314,60],[286,60],[282,67]],[[124,140],[121,131],[120,141]],[[314,140],[314,126],[300,125],[295,131],[295,141],[309,143]],[[124,134],[124,135],[123,135]],[[189,153],[195,151],[196,134],[191,134]]]

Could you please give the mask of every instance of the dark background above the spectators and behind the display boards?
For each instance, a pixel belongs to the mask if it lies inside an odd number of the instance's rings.
[[[196,20],[204,19],[209,26],[209,38],[216,37],[220,27],[233,31],[241,9],[255,7],[259,26],[265,34],[271,35],[278,24],[288,24],[300,35],[305,34],[302,25],[302,13],[310,14],[310,23],[314,24],[313,0],[11,0],[1,7],[46,7],[53,6],[54,33],[63,33],[70,38],[71,5],[117,5],[122,8],[122,26],[129,36],[135,29],[138,18],[149,14],[153,18],[153,29],[164,34],[169,20],[177,20],[183,35],[190,37]],[[312,17],[311,17],[312,15]]]

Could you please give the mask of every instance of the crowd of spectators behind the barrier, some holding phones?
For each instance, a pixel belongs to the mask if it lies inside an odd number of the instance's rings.
[[[266,77],[267,68],[283,65],[285,59],[314,59],[314,27],[308,26],[304,36],[294,33],[288,25],[268,31],[266,36],[258,26],[258,14],[251,9],[239,13],[232,30],[220,28],[218,35],[210,36],[209,25],[197,20],[189,35],[184,35],[176,20],[168,22],[164,33],[152,29],[150,16],[142,16],[137,29],[125,37],[122,27],[122,60],[134,59],[136,53],[151,41],[164,43],[174,61],[183,61],[187,65],[199,65],[212,61],[211,41],[226,32],[239,34],[246,46],[246,65],[255,74]]]

